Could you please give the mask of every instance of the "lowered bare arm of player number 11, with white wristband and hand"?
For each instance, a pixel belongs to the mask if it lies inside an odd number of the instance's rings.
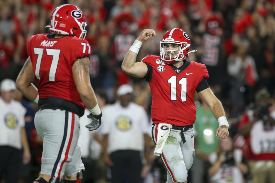
[[[220,127],[216,130],[216,137],[226,139],[229,136],[228,122],[221,101],[213,94],[210,88],[199,92],[200,98],[210,107],[213,115],[218,120]]]

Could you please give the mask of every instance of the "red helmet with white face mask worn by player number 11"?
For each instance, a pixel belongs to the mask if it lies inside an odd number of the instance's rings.
[[[174,43],[180,45],[180,50],[178,51],[178,54],[171,58],[167,57],[165,55],[165,51],[170,51],[172,55],[172,51],[175,52],[175,50],[168,50],[165,49],[165,43]],[[185,59],[189,53],[193,51],[189,51],[190,49],[190,38],[184,32],[182,29],[174,28],[167,31],[164,36],[162,37],[162,40],[160,41],[160,57],[162,60],[164,60],[167,64],[174,64],[182,61]],[[197,50],[194,50],[197,51]]]

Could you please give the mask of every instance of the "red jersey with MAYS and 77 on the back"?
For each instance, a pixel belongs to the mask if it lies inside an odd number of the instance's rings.
[[[74,83],[72,65],[76,59],[91,55],[87,40],[72,36],[53,39],[51,34],[37,34],[29,39],[28,54],[39,98],[59,97],[85,108]]]

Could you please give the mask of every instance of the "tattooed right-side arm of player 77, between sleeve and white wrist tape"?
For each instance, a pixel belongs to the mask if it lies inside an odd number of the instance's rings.
[[[82,102],[91,109],[97,105],[97,99],[91,86],[89,65],[89,57],[77,59],[72,65],[72,75]]]

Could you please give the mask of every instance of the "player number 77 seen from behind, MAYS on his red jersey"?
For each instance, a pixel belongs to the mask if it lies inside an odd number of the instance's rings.
[[[95,130],[101,124],[101,110],[90,83],[86,25],[77,6],[60,5],[47,26],[53,34],[33,35],[28,41],[29,58],[16,87],[39,107],[34,120],[43,139],[43,154],[36,183],[81,182],[84,165],[77,141],[85,107],[92,120],[86,127]]]

